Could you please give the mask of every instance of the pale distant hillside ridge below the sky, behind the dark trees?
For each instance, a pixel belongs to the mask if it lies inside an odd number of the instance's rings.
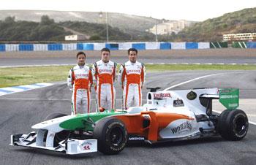
[[[65,21],[82,21],[87,23],[105,23],[105,12],[102,12],[102,18],[99,18],[99,12],[64,12],[64,11],[45,11],[45,10],[0,10],[0,20],[8,16],[15,17],[15,20],[26,20],[39,22],[42,15],[48,15],[56,23]],[[121,31],[145,31],[152,28],[156,21],[162,20],[142,17],[138,15],[127,15],[115,12],[108,12],[108,23],[113,28],[119,28]]]

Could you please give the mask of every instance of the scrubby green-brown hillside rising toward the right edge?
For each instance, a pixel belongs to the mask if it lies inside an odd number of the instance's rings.
[[[221,41],[222,34],[256,32],[256,7],[230,12],[218,18],[208,19],[185,28],[174,41],[207,42]]]

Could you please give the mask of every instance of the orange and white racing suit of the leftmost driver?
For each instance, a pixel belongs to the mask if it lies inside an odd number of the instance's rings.
[[[69,71],[67,85],[72,93],[72,115],[90,111],[92,74],[89,66],[74,66]]]

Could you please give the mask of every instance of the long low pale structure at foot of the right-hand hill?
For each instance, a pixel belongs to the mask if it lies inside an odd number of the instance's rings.
[[[256,33],[223,34],[223,41],[256,41]]]

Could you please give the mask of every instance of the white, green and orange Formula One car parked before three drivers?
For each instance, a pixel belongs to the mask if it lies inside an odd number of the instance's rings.
[[[29,134],[11,135],[10,145],[37,147],[67,154],[121,152],[127,142],[149,143],[196,139],[220,135],[241,140],[248,131],[248,118],[237,110],[238,89],[199,88],[157,91],[150,88],[143,107],[102,110],[89,114],[53,114]],[[212,100],[227,108],[212,113]]]

